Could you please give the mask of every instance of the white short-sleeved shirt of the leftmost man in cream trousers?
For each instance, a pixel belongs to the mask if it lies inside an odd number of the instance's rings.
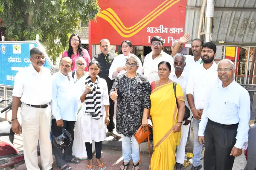
[[[42,67],[37,72],[33,65],[17,72],[12,96],[21,97],[20,101],[29,105],[45,105],[52,99],[51,72]]]

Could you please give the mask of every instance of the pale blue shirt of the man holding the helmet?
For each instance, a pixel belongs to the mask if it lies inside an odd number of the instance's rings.
[[[52,75],[52,119],[76,121],[78,99],[74,80],[61,71]]]

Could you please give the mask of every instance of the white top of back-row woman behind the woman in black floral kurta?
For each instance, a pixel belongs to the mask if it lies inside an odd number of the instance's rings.
[[[126,61],[128,59],[129,56],[125,56],[124,54],[120,54],[118,56],[116,56],[113,60],[112,65],[109,68],[109,72],[108,72],[108,77],[113,80],[115,79],[117,76],[121,75],[121,74],[125,74],[126,71],[121,70],[119,71],[119,73],[116,71],[117,68],[119,67],[125,67]],[[140,59],[138,58],[138,62],[139,62],[139,68],[137,69],[137,73],[140,73],[142,75],[142,63],[140,61]]]

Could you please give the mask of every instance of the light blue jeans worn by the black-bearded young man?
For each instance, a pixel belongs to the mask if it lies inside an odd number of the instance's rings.
[[[194,156],[193,156],[193,165],[194,167],[198,167],[201,164],[201,156],[202,156],[202,148],[203,145],[201,145],[198,142],[198,130],[199,130],[199,123],[201,120],[197,120],[193,118],[193,131],[194,131]]]

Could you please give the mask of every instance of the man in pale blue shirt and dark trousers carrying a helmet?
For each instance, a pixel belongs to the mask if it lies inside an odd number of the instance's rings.
[[[78,108],[74,80],[68,75],[72,71],[72,65],[73,61],[70,57],[63,57],[59,63],[59,71],[52,75],[52,134],[53,136],[60,136],[63,133],[63,128],[65,128],[72,137],[71,144],[64,149],[64,154],[62,149],[52,145],[57,167],[64,170],[71,169],[66,162],[76,164],[80,162],[72,156],[74,126]]]

